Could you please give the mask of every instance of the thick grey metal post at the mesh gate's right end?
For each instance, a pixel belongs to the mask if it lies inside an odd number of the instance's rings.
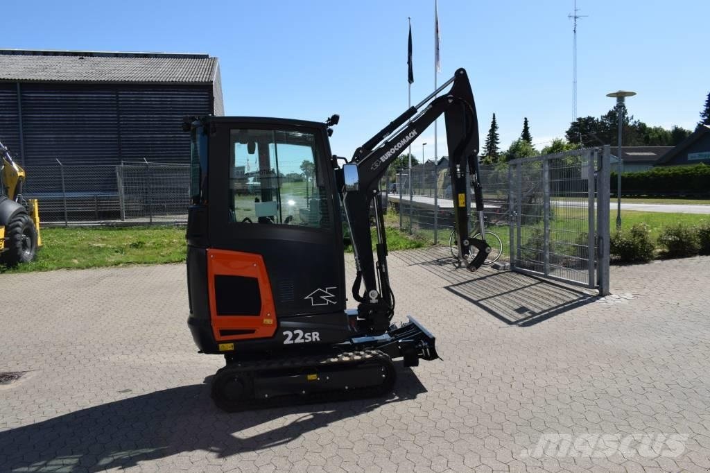
[[[597,247],[599,271],[597,272],[599,295],[609,294],[609,178],[611,146],[604,145],[597,173]]]

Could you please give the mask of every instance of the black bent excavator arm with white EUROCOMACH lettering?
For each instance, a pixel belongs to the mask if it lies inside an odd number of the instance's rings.
[[[453,84],[453,85],[452,85]],[[449,92],[437,97],[446,87]],[[476,105],[468,76],[464,69],[456,71],[429,97],[398,116],[378,134],[358,148],[349,163],[339,168],[337,182],[341,187],[346,219],[351,231],[357,276],[353,297],[360,303],[359,312],[370,320],[373,331],[386,328],[394,312],[394,298],[387,271],[387,243],[379,205],[375,205],[378,241],[377,263],[371,251],[369,212],[372,200],[378,196],[378,183],[389,165],[408,144],[420,136],[440,115],[444,115],[449,146],[449,171],[454,198],[454,220],[459,245],[459,259],[475,271],[485,261],[490,247],[486,241],[469,237],[469,192],[466,190],[466,165],[471,175],[476,211],[479,213],[481,235],[484,235],[483,199],[479,182],[479,131]],[[473,246],[476,251],[471,251]],[[471,256],[475,254],[475,256]],[[361,284],[364,282],[364,293]]]

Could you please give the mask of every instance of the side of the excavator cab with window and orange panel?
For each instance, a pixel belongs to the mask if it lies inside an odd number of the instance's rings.
[[[273,335],[303,315],[342,323],[342,226],[326,133],[307,121],[210,119],[207,265],[218,340]],[[253,327],[261,330],[246,332]]]

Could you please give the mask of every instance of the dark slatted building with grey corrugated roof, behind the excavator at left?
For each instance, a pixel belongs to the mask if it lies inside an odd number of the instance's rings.
[[[0,141],[43,219],[114,217],[116,165],[189,163],[182,117],[205,114],[224,115],[206,54],[0,50]]]

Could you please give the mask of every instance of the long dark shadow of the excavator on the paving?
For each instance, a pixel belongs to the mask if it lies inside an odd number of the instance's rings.
[[[182,386],[122,399],[0,432],[0,471],[97,472],[135,466],[182,452],[219,457],[255,452],[379,406],[415,398],[426,389],[397,364],[398,381],[386,398],[224,413],[209,384]],[[274,425],[266,425],[273,422]]]

